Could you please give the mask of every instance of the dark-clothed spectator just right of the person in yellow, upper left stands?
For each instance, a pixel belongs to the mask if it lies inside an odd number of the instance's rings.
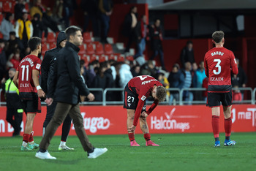
[[[42,31],[45,32],[45,37],[42,38],[42,42],[45,42],[47,37],[48,37],[48,28],[44,25],[44,23],[42,23],[42,20],[40,20],[40,15],[39,13],[36,13],[33,16],[33,20],[32,24],[33,24],[33,37],[42,37]]]

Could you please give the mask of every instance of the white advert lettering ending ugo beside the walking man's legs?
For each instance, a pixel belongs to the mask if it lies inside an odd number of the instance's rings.
[[[98,129],[108,129],[110,120],[103,117],[89,117],[86,118],[86,113],[81,113],[83,117],[84,129],[89,130],[91,133],[96,133]],[[74,128],[74,125],[72,126]]]

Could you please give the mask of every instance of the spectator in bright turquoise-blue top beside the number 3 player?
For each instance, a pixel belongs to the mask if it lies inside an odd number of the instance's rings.
[[[197,78],[197,86],[196,88],[202,88],[203,86],[203,79],[205,79],[206,77],[206,73],[205,73],[205,67],[204,67],[204,62],[200,61],[199,63],[199,68],[197,69],[197,71],[195,72],[196,78]],[[203,94],[202,91],[195,91],[194,93],[194,99],[195,100],[203,100]]]

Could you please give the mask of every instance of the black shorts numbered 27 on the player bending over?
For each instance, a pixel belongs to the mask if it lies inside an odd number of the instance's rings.
[[[138,106],[139,98],[138,95],[133,93],[129,88],[128,85],[124,88],[124,108],[130,109],[130,110],[136,110]],[[141,110],[141,113],[145,111],[146,112],[146,102],[143,104],[143,108]]]

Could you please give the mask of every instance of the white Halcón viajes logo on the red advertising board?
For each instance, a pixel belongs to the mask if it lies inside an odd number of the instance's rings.
[[[170,114],[165,113],[165,117],[160,116],[151,116],[151,129],[181,129],[181,132],[189,129],[189,122],[177,122],[175,119],[172,119],[173,113],[176,108],[170,111]]]

